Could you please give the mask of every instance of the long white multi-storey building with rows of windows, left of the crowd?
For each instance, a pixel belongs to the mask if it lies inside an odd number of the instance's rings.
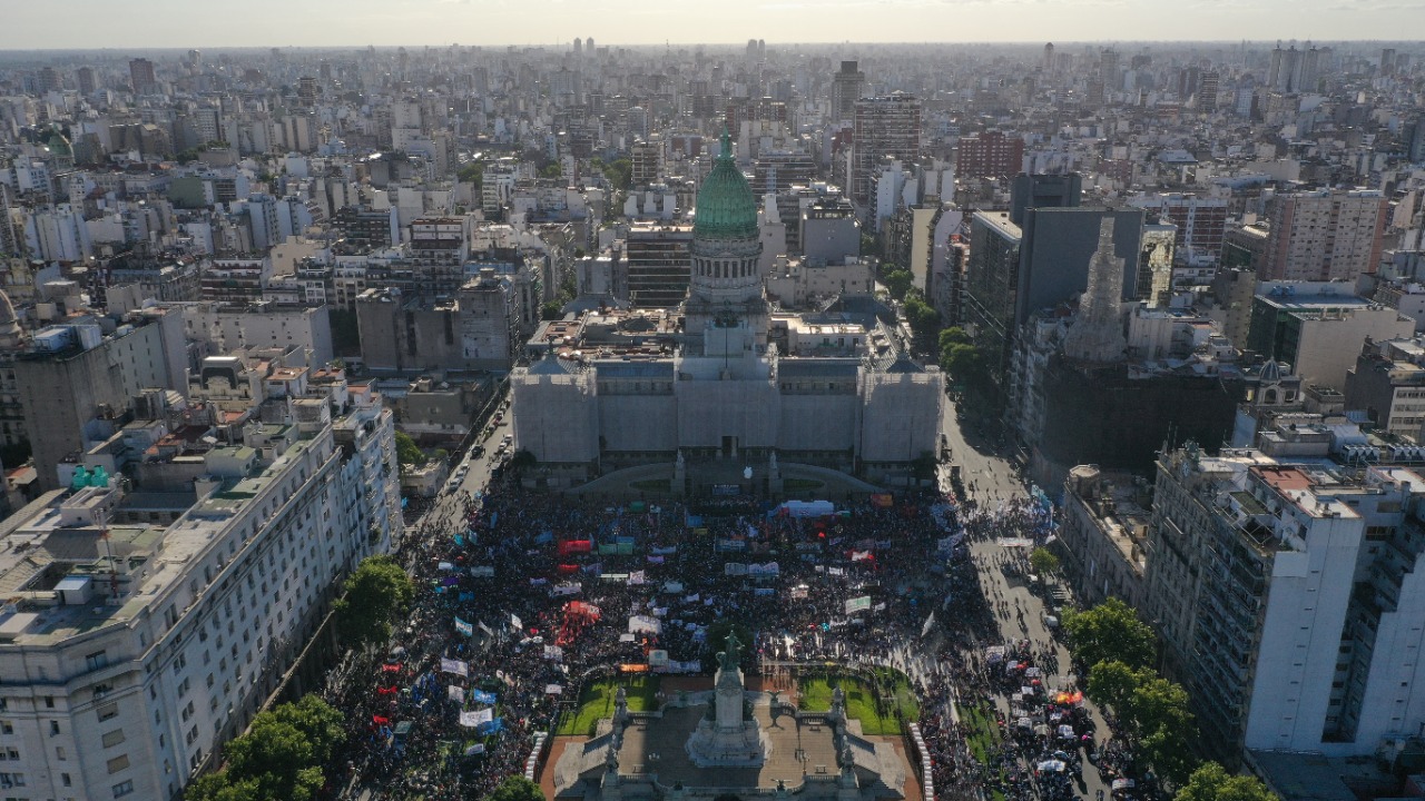
[[[177,798],[399,536],[390,412],[323,389],[184,456],[188,492],[56,490],[0,526],[6,795]]]

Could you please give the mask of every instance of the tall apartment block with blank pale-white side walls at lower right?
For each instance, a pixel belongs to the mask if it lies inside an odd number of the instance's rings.
[[[1368,757],[1418,731],[1421,480],[1255,450],[1163,455],[1143,616],[1214,755]]]

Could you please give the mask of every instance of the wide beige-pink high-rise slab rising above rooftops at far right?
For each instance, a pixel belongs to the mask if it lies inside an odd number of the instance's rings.
[[[1355,281],[1375,272],[1389,202],[1375,190],[1321,190],[1273,198],[1260,281]]]

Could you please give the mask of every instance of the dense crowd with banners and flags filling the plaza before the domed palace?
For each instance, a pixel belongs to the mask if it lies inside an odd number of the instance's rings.
[[[1003,646],[969,540],[1042,539],[1049,524],[1029,502],[965,513],[936,493],[848,500],[808,517],[751,497],[580,500],[506,477],[426,510],[400,552],[418,590],[409,623],[389,651],[331,683],[351,730],[346,787],[389,800],[482,797],[524,772],[536,733],[561,706],[573,710],[586,680],[620,666],[703,671],[708,629],[730,620],[755,633],[748,676],[775,683],[787,666],[825,660],[903,671],[921,698],[936,795],[998,787],[1027,797],[1037,775],[1054,797],[1033,767],[1043,754],[1019,744],[1015,721],[1002,715],[995,770],[970,755],[955,713],[966,694],[998,691],[986,647]],[[1032,664],[1035,646],[1012,643],[1016,663]]]

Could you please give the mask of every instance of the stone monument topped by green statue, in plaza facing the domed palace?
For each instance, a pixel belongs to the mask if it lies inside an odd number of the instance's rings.
[[[688,737],[688,760],[700,768],[761,765],[771,753],[771,740],[747,710],[747,684],[742,680],[741,643],[728,634],[712,678],[712,703],[708,715],[698,721]]]

